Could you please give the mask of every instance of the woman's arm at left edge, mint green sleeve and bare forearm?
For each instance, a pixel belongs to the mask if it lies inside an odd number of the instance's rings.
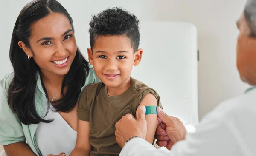
[[[13,77],[12,74],[7,74],[0,81],[0,144],[3,145],[7,156],[36,156],[26,144],[21,122],[12,113],[7,102],[7,90]]]

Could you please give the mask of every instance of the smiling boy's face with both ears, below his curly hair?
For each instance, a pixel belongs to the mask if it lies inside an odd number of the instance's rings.
[[[130,39],[124,35],[99,36],[93,49],[88,48],[90,64],[94,66],[97,77],[109,88],[128,81],[132,67],[139,65],[142,53],[142,49],[134,53]]]

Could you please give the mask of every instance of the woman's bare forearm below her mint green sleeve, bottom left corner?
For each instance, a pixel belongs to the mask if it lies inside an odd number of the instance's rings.
[[[26,142],[17,142],[3,146],[7,156],[36,156]]]

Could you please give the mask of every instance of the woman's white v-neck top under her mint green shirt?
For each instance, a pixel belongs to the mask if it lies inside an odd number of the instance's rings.
[[[76,145],[77,132],[62,118],[62,116],[51,109],[43,119],[54,119],[50,123],[40,122],[35,132],[35,139],[43,156],[48,154],[58,155],[64,152],[70,155]]]

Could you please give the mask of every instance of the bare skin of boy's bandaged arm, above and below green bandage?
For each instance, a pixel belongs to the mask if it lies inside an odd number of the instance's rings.
[[[148,93],[144,96],[144,98],[140,102],[140,105],[138,106],[137,110],[140,109],[140,106],[143,106],[143,105],[157,106],[158,102],[156,97],[153,94]],[[136,111],[136,116],[137,116],[137,112],[138,111]],[[147,129],[148,129],[145,140],[152,143],[154,140],[155,131],[157,129],[157,114],[148,114],[146,115],[145,119],[147,120]]]

